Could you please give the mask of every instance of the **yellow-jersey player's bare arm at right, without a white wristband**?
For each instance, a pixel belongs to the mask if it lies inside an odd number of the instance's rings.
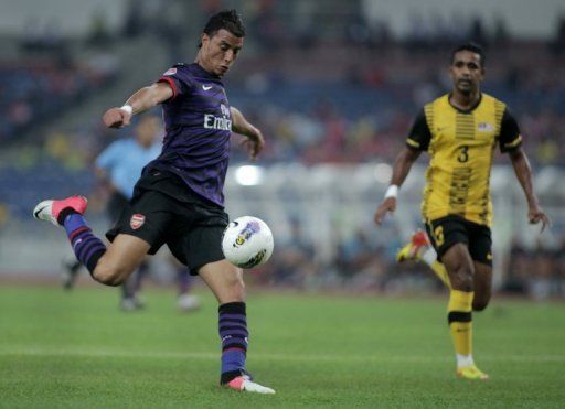
[[[522,148],[516,148],[510,152],[510,160],[512,161],[512,168],[514,168],[514,173],[522,185],[522,190],[524,191],[525,198],[527,201],[527,218],[531,224],[542,222],[543,232],[545,230],[545,227],[551,227],[552,223],[540,206],[537,196],[534,193],[530,161]]]

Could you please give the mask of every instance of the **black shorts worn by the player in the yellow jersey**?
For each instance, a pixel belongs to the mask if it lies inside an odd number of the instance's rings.
[[[460,216],[446,216],[426,223],[426,232],[439,260],[451,246],[463,243],[475,261],[492,266],[492,238],[488,226]]]

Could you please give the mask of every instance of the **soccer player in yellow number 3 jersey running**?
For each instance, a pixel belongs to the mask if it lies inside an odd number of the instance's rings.
[[[508,153],[527,200],[530,223],[550,219],[540,207],[532,172],[521,148],[522,136],[507,105],[481,93],[484,54],[476,44],[465,44],[451,54],[452,90],[427,104],[416,118],[406,147],[396,158],[391,185],[379,205],[380,225],[396,209],[398,187],[422,151],[430,157],[422,213],[438,260],[434,271],[450,290],[448,323],[457,356],[457,374],[468,379],[488,375],[472,358],[472,313],[484,310],[492,283],[492,204],[490,170],[497,144]],[[399,258],[426,249],[426,237],[414,237]],[[411,252],[412,254],[408,254]]]

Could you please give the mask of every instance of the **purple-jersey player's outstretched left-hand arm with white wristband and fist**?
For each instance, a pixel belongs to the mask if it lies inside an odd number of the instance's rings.
[[[158,104],[172,98],[173,90],[168,83],[154,83],[143,87],[128,98],[121,107],[114,107],[104,112],[103,121],[108,128],[127,127],[131,117],[141,114]]]

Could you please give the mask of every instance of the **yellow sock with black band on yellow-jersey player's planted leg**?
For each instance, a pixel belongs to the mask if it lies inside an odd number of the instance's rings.
[[[447,306],[447,320],[458,357],[469,357],[472,362],[472,298],[473,292],[451,290]],[[459,360],[459,359],[458,359]]]

